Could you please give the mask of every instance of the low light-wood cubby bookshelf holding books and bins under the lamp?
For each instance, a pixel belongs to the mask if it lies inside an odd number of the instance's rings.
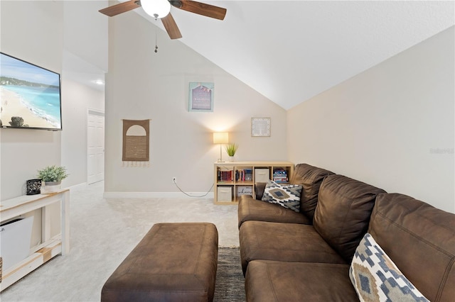
[[[235,205],[239,196],[255,198],[255,183],[273,179],[287,183],[294,173],[291,162],[215,162],[213,201],[219,205]]]

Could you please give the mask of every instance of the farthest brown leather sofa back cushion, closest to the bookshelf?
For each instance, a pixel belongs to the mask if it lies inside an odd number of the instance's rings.
[[[309,164],[297,164],[291,175],[291,184],[300,184],[303,189],[300,197],[300,211],[313,221],[314,210],[318,203],[319,187],[325,177],[333,174],[326,169]]]

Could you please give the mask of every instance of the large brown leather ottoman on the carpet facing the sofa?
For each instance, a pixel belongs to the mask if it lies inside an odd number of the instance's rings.
[[[107,279],[101,301],[213,301],[218,230],[158,223]]]

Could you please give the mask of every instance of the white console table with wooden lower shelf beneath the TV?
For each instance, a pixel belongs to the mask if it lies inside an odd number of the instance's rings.
[[[50,215],[47,206],[60,203],[60,233],[50,236]],[[24,195],[0,201],[1,222],[41,208],[41,244],[31,247],[31,255],[3,272],[0,291],[3,291],[26,274],[40,267],[58,254],[70,252],[70,190],[55,193]]]

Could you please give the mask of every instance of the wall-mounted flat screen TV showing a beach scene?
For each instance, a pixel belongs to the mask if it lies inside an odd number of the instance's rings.
[[[60,74],[0,52],[2,128],[62,130]]]

